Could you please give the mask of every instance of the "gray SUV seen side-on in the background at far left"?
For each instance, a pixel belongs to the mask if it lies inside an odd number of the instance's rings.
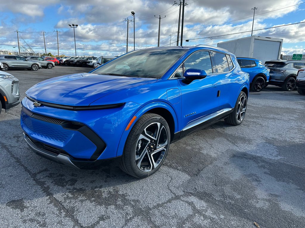
[[[37,71],[41,68],[41,64],[38,61],[28,60],[18,55],[1,55],[0,62],[3,64],[2,71],[9,69],[28,69]]]

